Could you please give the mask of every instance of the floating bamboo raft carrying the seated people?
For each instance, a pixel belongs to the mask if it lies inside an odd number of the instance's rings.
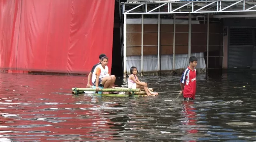
[[[149,88],[150,91],[153,92],[153,88]],[[102,94],[102,92],[109,92],[110,94]],[[124,94],[119,94],[120,92],[123,92]],[[99,88],[98,93],[96,92],[95,86],[90,86],[90,88],[72,88],[71,89],[72,94],[92,94],[96,96],[115,96],[115,97],[146,97],[147,93],[144,91],[144,89],[136,88],[124,88],[124,87],[115,87],[115,88]]]

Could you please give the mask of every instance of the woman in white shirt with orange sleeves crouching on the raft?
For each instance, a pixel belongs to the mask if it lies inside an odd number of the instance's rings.
[[[108,57],[102,57],[99,65],[97,65],[92,74],[92,85],[96,87],[96,92],[99,91],[99,86],[103,88],[111,88],[116,81],[115,75],[110,75],[108,71]],[[109,94],[108,92],[102,92]]]

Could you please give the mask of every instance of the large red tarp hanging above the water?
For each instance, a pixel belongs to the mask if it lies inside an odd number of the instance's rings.
[[[99,55],[111,71],[114,0],[0,0],[0,68],[89,73]]]

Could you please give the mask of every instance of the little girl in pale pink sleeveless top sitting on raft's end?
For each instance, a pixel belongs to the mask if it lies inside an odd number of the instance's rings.
[[[139,78],[137,77],[137,68],[132,66],[131,69],[130,69],[130,72],[131,72],[131,75],[129,76],[128,78],[128,88],[132,88],[132,89],[135,89],[135,88],[140,88],[140,89],[144,89],[145,92],[147,93],[147,96],[150,96],[150,95],[158,95],[158,93],[156,92],[152,92],[148,89],[148,84],[146,82],[140,82]]]

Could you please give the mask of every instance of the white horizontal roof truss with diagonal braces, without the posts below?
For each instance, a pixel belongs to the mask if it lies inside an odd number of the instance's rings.
[[[223,13],[256,11],[254,0],[150,1],[123,3],[123,14]],[[159,5],[161,4],[161,5]],[[133,5],[134,8],[125,5]],[[145,5],[147,8],[141,9]],[[127,8],[127,9],[126,9]],[[155,11],[160,9],[160,11]],[[153,12],[155,11],[155,12]]]

